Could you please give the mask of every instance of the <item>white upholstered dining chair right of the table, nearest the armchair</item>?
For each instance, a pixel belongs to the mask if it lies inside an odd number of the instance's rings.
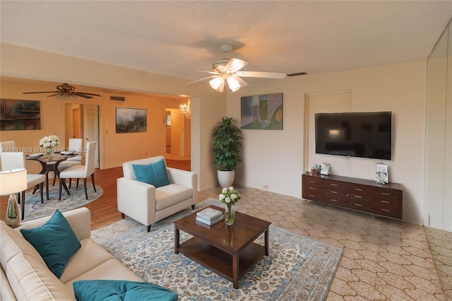
[[[94,167],[95,167],[95,150],[96,150],[96,141],[86,143],[86,159],[85,165],[76,165],[73,167],[69,167],[66,170],[63,170],[59,173],[59,197],[61,199],[61,188],[63,182],[66,184],[66,179],[69,179],[69,188],[71,187],[71,179],[77,179],[77,187],[78,187],[78,179],[83,179],[83,184],[85,185],[85,198],[88,199],[88,190],[86,187],[86,179],[91,176],[91,182],[93,182],[94,191],[96,191],[96,185],[94,182]]]

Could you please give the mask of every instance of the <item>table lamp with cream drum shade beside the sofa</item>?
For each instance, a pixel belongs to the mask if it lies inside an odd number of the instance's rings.
[[[26,190],[27,186],[27,170],[24,168],[0,172],[0,195],[9,194],[8,206],[6,207],[6,225],[11,228],[17,228],[20,224],[16,194]]]

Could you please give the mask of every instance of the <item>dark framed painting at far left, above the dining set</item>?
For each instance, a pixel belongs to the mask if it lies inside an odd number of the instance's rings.
[[[39,100],[0,99],[0,130],[41,129]]]

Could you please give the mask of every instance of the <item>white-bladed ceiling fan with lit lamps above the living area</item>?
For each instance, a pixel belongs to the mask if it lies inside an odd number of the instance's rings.
[[[227,54],[232,50],[232,45],[222,44],[220,45],[220,50],[224,54]],[[286,76],[284,72],[241,71],[247,64],[248,62],[243,61],[242,59],[220,59],[212,64],[213,71],[202,71],[213,75],[189,83],[208,81],[210,87],[222,93],[225,90],[225,83],[227,83],[232,92],[239,90],[240,87],[246,87],[248,83],[246,83],[242,77],[285,78]]]

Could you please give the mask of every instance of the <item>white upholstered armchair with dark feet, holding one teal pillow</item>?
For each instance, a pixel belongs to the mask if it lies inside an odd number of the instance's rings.
[[[148,165],[165,158],[152,158],[123,163],[124,177],[117,179],[118,211],[147,226],[171,216],[189,206],[194,209],[198,201],[198,175],[196,172],[166,167],[169,184],[157,187],[136,180],[132,165]]]

